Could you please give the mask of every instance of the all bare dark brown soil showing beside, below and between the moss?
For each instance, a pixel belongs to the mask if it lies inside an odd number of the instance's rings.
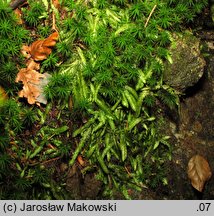
[[[203,77],[180,98],[179,111],[175,109],[169,110],[166,107],[154,108],[162,109],[162,113],[159,114],[160,118],[163,118],[165,122],[162,133],[170,137],[169,143],[172,146],[172,159],[164,165],[168,183],[165,186],[159,184],[159,186],[153,189],[147,188],[145,185],[141,192],[130,189],[128,190],[128,194],[132,199],[214,199],[214,171],[202,193],[192,187],[187,174],[188,162],[192,156],[197,154],[203,156],[209,162],[211,170],[214,170],[214,32],[201,29],[195,33],[195,36],[201,38],[201,45],[204,47],[206,54],[206,57],[204,57],[206,66]],[[42,113],[45,113],[43,106],[41,106],[41,110]],[[66,124],[68,131],[73,133],[74,125],[69,114],[66,115],[62,112],[60,119],[58,119],[59,112],[57,105],[53,104],[47,113],[45,124],[49,126],[57,125],[58,127]],[[80,124],[82,123],[80,122]],[[41,125],[35,124],[32,130],[26,130],[18,138],[30,146],[31,138],[33,140],[34,137],[38,136],[41,127]],[[66,136],[62,136],[61,138],[63,143],[68,143],[70,139],[70,137]],[[78,142],[78,139],[74,141],[72,148],[75,148],[76,142]],[[53,180],[57,186],[59,183],[60,189],[65,189],[65,193],[68,194],[65,196],[66,199],[109,198],[102,195],[104,185],[96,179],[96,169],[83,174],[84,166],[78,160],[74,165],[68,166],[66,159],[57,156],[41,163],[41,167],[44,166],[47,169],[53,168],[54,171],[51,174],[52,179],[50,179],[50,182]],[[22,162],[25,163],[25,161]],[[83,162],[87,163],[87,161],[84,161],[84,158]],[[34,165],[38,165],[36,160],[32,160],[32,164],[29,166]],[[54,192],[52,191],[52,193]],[[115,199],[124,199],[124,196],[120,192],[115,192],[113,197]],[[61,199],[57,193],[54,198]]]

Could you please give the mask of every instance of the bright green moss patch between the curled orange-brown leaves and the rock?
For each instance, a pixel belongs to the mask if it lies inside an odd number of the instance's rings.
[[[162,83],[173,31],[181,31],[207,1],[96,1],[69,5],[62,43],[74,51],[58,73],[73,77],[71,97],[86,123],[73,133],[80,143],[70,165],[83,154],[97,177],[129,198],[167,181],[168,137],[160,133],[151,107],[178,105],[178,95]],[[64,39],[63,39],[64,38]],[[63,46],[59,45],[62,49]],[[51,91],[48,87],[47,90]],[[84,113],[84,114],[83,114]],[[112,195],[112,188],[105,195]]]

